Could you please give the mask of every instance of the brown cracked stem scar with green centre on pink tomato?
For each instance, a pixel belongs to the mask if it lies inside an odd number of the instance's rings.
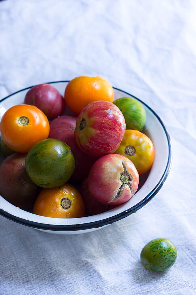
[[[133,176],[131,175],[129,171],[127,171],[127,166],[124,161],[122,161],[122,165],[123,165],[123,172],[120,173],[120,178],[119,178],[122,184],[118,188],[118,190],[116,191],[116,194],[113,196],[110,202],[114,202],[120,198],[125,186],[129,186],[129,189],[131,191],[131,196],[133,196],[134,194],[134,189],[132,186]]]

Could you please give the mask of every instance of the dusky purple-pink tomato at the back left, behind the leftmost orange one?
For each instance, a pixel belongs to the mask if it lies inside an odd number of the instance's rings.
[[[65,111],[65,100],[60,92],[50,84],[39,84],[26,94],[24,104],[37,106],[38,109],[53,120]]]

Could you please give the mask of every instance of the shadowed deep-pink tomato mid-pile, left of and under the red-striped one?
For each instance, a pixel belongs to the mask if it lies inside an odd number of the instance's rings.
[[[75,158],[75,170],[70,179],[80,181],[88,176],[88,172],[97,158],[87,155],[77,145],[74,138],[76,119],[76,116],[66,115],[52,120],[48,137],[62,140],[71,148]]]

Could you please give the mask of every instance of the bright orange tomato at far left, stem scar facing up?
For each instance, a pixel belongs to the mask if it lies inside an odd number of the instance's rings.
[[[49,131],[47,117],[36,106],[12,106],[1,119],[1,136],[15,152],[28,153],[34,144],[48,137]]]

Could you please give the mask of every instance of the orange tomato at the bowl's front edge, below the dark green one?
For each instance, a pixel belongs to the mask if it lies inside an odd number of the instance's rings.
[[[83,199],[72,185],[65,183],[54,189],[43,189],[37,197],[33,213],[46,217],[84,217]]]

